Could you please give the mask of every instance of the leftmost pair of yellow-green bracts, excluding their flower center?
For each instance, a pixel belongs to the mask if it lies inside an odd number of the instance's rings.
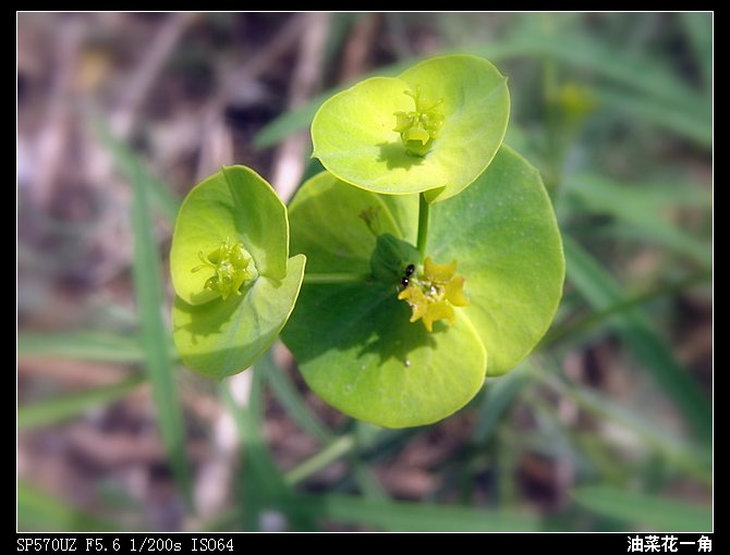
[[[211,270],[192,271],[198,254],[224,240],[242,243],[256,269],[227,299],[205,287]],[[251,366],[291,314],[304,264],[303,256],[289,258],[287,208],[253,170],[223,168],[196,185],[180,208],[170,250],[173,340],[183,362],[217,379]]]

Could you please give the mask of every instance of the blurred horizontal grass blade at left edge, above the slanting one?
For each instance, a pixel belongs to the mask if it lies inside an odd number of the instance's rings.
[[[174,347],[168,341],[168,357],[177,360]],[[94,360],[99,362],[139,363],[145,354],[142,340],[131,335],[100,332],[72,332],[53,334],[20,333],[19,357],[53,357]]]

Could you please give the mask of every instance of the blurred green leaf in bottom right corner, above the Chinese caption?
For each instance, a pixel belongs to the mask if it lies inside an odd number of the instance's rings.
[[[584,486],[572,492],[576,503],[588,510],[657,532],[709,532],[709,507],[667,497],[645,495],[607,486]]]

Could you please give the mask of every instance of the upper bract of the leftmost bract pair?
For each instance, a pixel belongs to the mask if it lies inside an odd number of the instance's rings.
[[[266,181],[242,165],[224,168],[196,185],[180,208],[170,272],[175,293],[188,305],[219,296],[205,287],[211,273],[193,269],[200,266],[199,254],[208,255],[227,239],[243,243],[258,274],[275,280],[287,274],[287,207]]]

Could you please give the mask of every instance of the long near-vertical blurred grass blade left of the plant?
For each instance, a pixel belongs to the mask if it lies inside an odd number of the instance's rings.
[[[170,365],[170,335],[162,323],[162,279],[147,194],[147,174],[138,164],[123,168],[133,188],[132,233],[134,257],[132,274],[142,324],[142,346],[153,385],[153,398],[162,443],[172,472],[186,503],[192,506],[191,474],[185,454],[185,431],[178,386]]]

